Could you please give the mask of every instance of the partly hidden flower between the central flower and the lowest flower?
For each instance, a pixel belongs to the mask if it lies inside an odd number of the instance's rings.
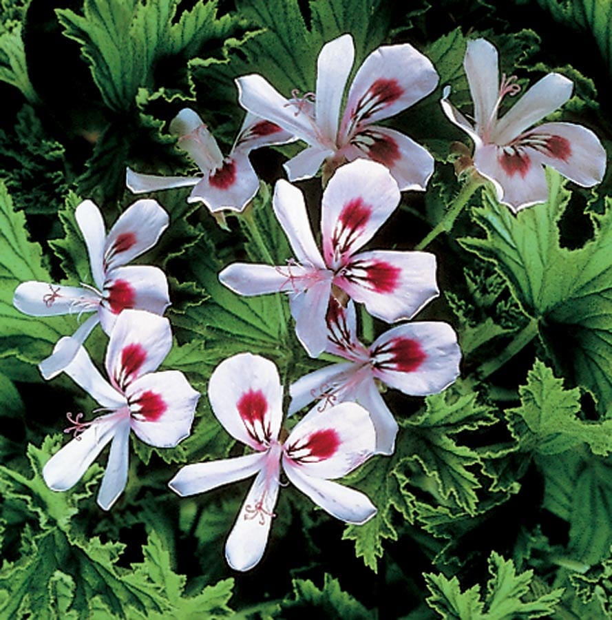
[[[357,340],[355,304],[346,308],[330,301],[327,352],[348,360],[324,366],[293,383],[289,415],[317,400],[323,412],[340,402],[356,400],[372,417],[376,451],[392,454],[397,422],[379,393],[377,382],[412,396],[441,392],[458,377],[461,350],[457,335],[443,322],[404,323],[389,329],[365,347]]]

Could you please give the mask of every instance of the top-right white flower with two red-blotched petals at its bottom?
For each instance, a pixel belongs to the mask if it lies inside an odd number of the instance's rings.
[[[571,80],[549,73],[498,118],[504,97],[520,90],[516,76],[503,74],[499,82],[497,50],[485,39],[468,41],[463,66],[474,101],[475,124],[447,101],[449,87],[442,107],[474,141],[474,167],[492,181],[500,202],[515,212],[545,202],[548,186],[543,165],[583,187],[602,180],[606,152],[591,130],[573,123],[544,123],[527,130],[569,99]]]

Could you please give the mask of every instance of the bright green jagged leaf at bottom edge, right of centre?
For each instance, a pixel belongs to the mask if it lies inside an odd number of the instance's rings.
[[[517,574],[514,562],[495,551],[489,557],[489,573],[484,596],[478,585],[462,591],[457,577],[425,574],[432,593],[426,601],[445,619],[516,620],[550,617],[563,594],[563,589],[558,588],[538,595],[534,571]]]

